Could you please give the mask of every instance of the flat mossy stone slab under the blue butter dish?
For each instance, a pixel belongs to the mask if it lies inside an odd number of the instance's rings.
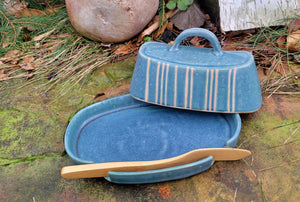
[[[118,185],[97,179],[63,179],[72,162],[64,152],[68,121],[104,93],[128,93],[134,63],[107,66],[89,82],[58,96],[22,81],[0,83],[0,201],[297,201],[300,176],[300,97],[264,97],[262,108],[241,114],[237,147],[253,155],[215,162],[182,180]],[[123,86],[123,87],[122,87]],[[95,96],[97,97],[95,99]]]

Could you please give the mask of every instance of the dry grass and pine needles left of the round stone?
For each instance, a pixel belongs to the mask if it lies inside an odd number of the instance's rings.
[[[2,17],[1,17],[2,16]],[[0,28],[2,46],[9,41],[11,45],[2,49],[2,57],[9,50],[20,50],[19,59],[32,55],[35,60],[32,65],[35,69],[30,73],[33,76],[25,85],[38,82],[40,88],[50,90],[62,84],[60,93],[81,83],[91,72],[103,65],[112,62],[117,57],[113,47],[102,47],[101,43],[91,41],[79,35],[71,26],[66,8],[47,16],[33,16],[17,19],[7,16],[0,10],[0,20],[7,25],[5,30]],[[35,29],[29,34],[32,40],[23,42],[22,29],[28,25]],[[14,33],[13,38],[9,33]],[[5,40],[3,39],[5,38]],[[28,72],[23,69],[12,70],[14,66],[6,63],[3,68],[9,70],[9,79],[28,79]],[[68,85],[66,85],[68,84]]]

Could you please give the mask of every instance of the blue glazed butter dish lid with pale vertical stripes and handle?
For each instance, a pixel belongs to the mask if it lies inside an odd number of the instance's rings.
[[[213,48],[180,46],[191,36],[208,39]],[[148,103],[208,112],[253,112],[262,104],[253,56],[221,50],[216,36],[201,28],[183,31],[173,45],[143,44],[130,93]]]

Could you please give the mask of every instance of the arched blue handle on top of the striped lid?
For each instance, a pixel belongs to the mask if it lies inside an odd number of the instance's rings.
[[[223,55],[223,51],[221,49],[220,43],[219,43],[216,35],[214,33],[212,33],[211,31],[208,31],[203,28],[191,28],[191,29],[187,29],[187,30],[184,30],[183,32],[181,32],[175,39],[174,44],[170,48],[170,51],[178,50],[180,43],[185,38],[188,38],[191,36],[199,36],[199,37],[203,37],[203,38],[207,39],[213,46],[214,54],[217,56]]]

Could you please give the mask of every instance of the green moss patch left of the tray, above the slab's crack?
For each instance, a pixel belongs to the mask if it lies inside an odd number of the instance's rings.
[[[62,151],[64,128],[47,111],[0,111],[0,157],[18,158],[48,151]]]

